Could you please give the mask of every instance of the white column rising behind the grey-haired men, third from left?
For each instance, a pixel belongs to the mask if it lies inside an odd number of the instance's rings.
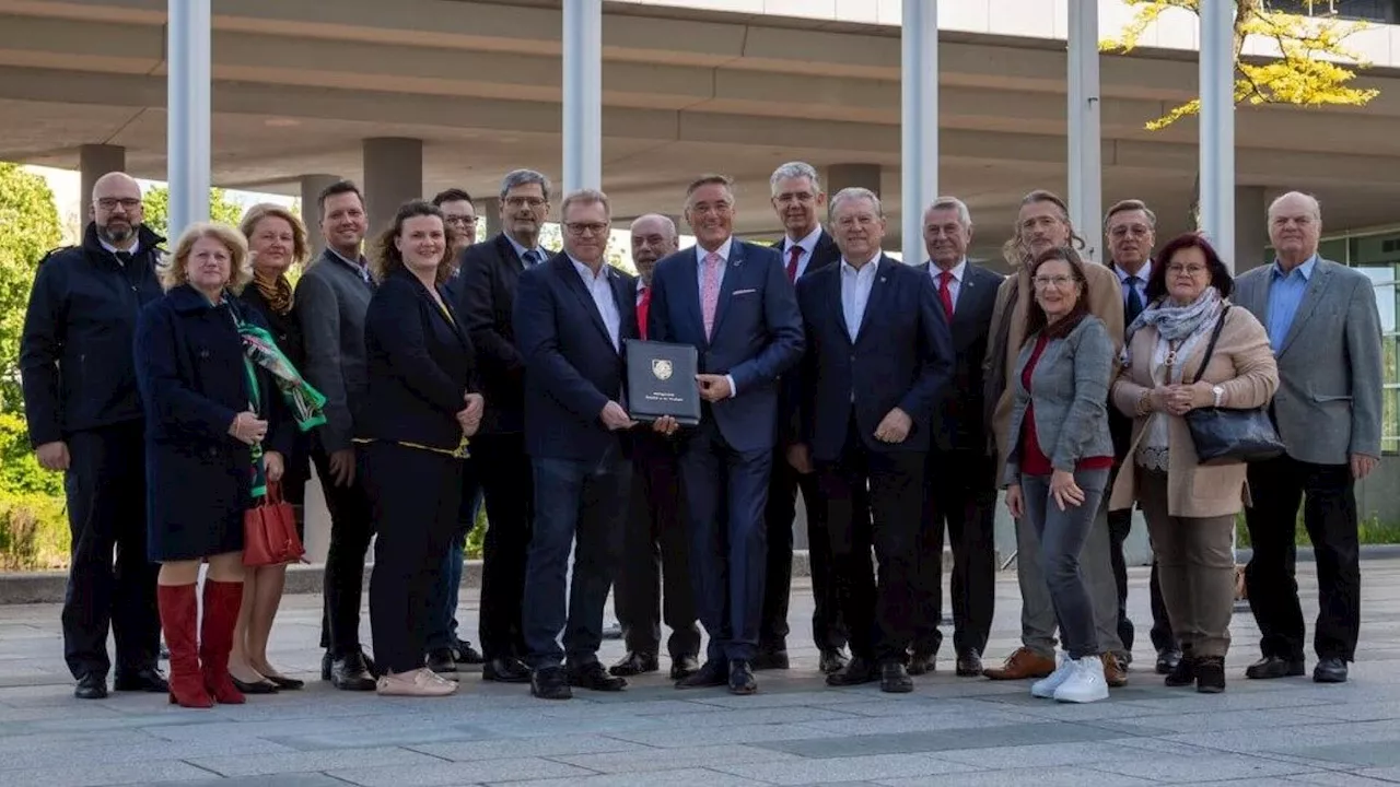
[[[938,197],[938,0],[904,0],[900,17],[900,239],[924,260],[924,209]]]

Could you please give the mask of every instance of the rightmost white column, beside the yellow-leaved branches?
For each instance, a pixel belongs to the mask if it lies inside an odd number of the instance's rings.
[[[1201,0],[1201,230],[1235,270],[1235,1]]]

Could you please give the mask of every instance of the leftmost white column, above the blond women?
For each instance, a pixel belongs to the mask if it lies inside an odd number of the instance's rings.
[[[165,179],[169,238],[209,220],[210,0],[169,0]]]

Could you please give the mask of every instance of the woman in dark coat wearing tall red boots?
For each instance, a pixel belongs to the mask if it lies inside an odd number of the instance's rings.
[[[146,410],[147,549],[171,651],[171,702],[242,703],[228,653],[244,592],[244,513],[281,476],[291,423],[273,377],[245,363],[242,329],[266,330],[230,290],[252,277],[248,244],[223,224],[185,231],[161,272],[165,297],[136,328]],[[204,616],[196,636],[200,563]],[[196,644],[197,643],[197,644]]]

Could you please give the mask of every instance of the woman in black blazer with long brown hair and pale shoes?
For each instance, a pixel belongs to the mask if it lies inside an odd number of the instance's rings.
[[[456,683],[424,665],[430,601],[456,529],[462,459],[482,423],[475,353],[442,283],[451,273],[442,213],[399,209],[378,242],[379,287],[364,318],[368,405],[365,485],[378,539],[370,627],[381,695],[445,696]]]

